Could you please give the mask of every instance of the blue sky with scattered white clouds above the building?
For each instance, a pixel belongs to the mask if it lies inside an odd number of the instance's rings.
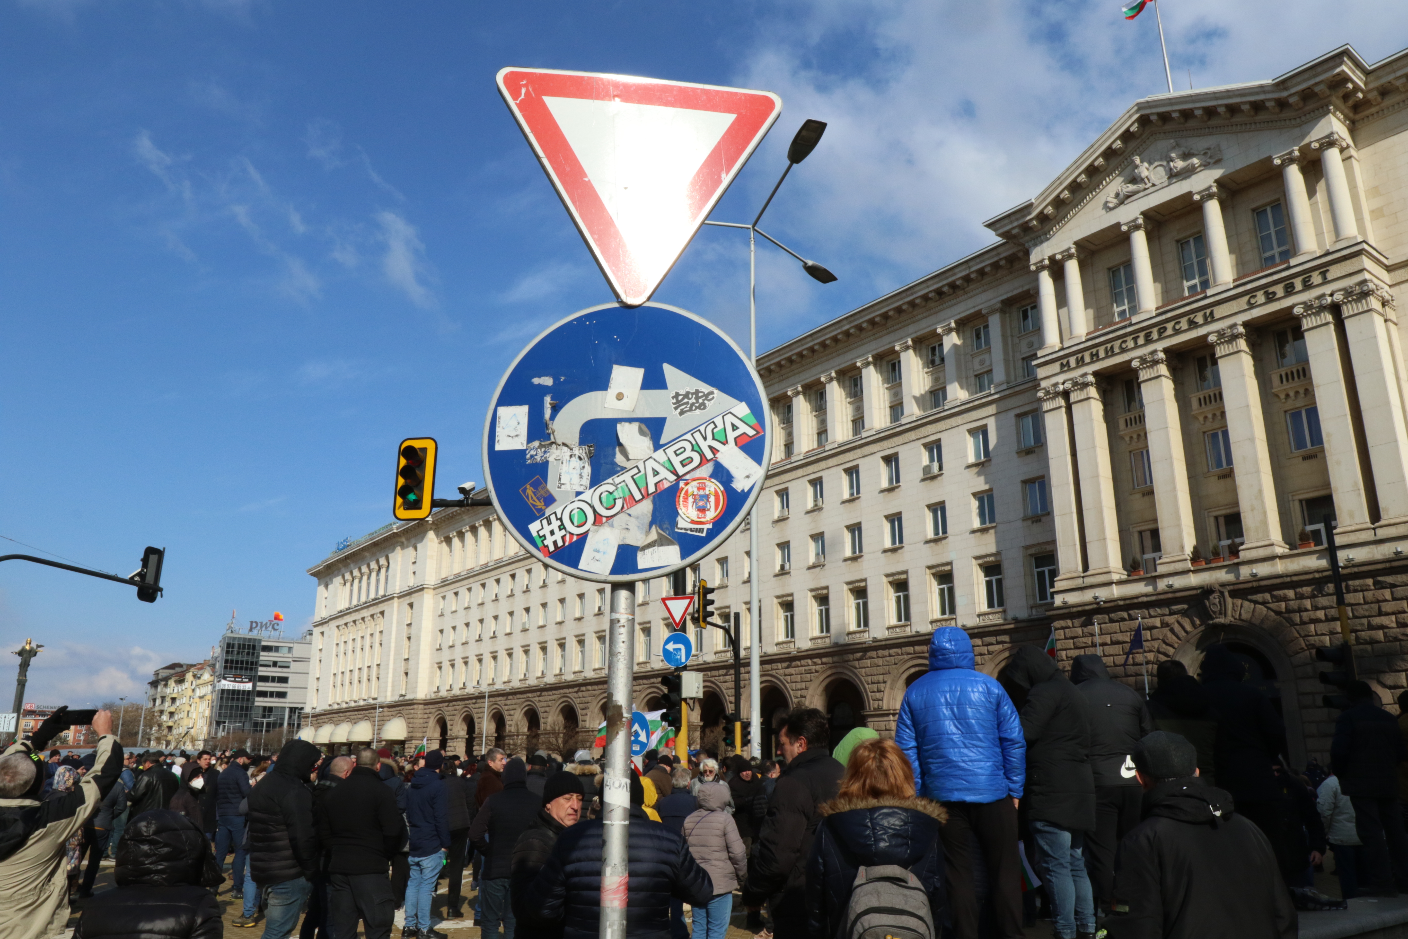
[[[1166,3],[1178,87],[1408,45],[1384,4],[1340,4],[1332,35],[1319,3]],[[766,349],[981,246],[981,220],[1162,92],[1152,17],[1118,6],[3,0],[0,535],[121,574],[169,550],[152,605],[4,565],[0,648],[46,645],[27,700],[137,693],[231,608],[301,629],[304,570],[389,521],[396,442],[435,435],[442,479],[476,479],[503,369],[611,298],[497,69],[777,92],[724,220],[804,118],[831,124],[769,231],[841,282],[762,251]],[[743,238],[705,231],[656,298],[746,344],[746,276]]]

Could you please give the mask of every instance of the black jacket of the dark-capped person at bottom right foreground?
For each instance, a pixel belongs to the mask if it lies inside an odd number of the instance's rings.
[[[1143,815],[1119,843],[1110,939],[1295,939],[1271,845],[1228,793],[1169,780],[1145,793]]]

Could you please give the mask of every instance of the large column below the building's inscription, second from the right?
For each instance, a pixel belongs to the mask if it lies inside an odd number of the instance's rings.
[[[1305,352],[1309,356],[1311,380],[1315,383],[1315,407],[1319,408],[1321,434],[1325,438],[1324,459],[1335,496],[1335,534],[1345,536],[1367,529],[1370,521],[1364,472],[1354,445],[1345,373],[1339,365],[1339,344],[1335,341],[1333,305],[1328,296],[1321,294],[1297,305],[1294,313],[1305,334]]]

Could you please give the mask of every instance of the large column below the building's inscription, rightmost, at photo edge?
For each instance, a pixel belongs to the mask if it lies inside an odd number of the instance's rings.
[[[1380,524],[1408,522],[1408,429],[1404,427],[1402,398],[1384,320],[1385,307],[1393,305],[1394,297],[1378,283],[1363,280],[1336,290],[1333,301],[1339,304],[1345,321],[1349,359],[1354,366]],[[1324,421],[1321,424],[1324,428]],[[1325,449],[1329,449],[1329,441]]]

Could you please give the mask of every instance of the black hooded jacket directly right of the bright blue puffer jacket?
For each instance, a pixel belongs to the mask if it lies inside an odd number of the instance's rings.
[[[1026,738],[1031,818],[1071,832],[1095,831],[1095,776],[1090,769],[1090,704],[1056,662],[1036,646],[1019,646],[1002,669],[1002,683],[1021,701]]]

